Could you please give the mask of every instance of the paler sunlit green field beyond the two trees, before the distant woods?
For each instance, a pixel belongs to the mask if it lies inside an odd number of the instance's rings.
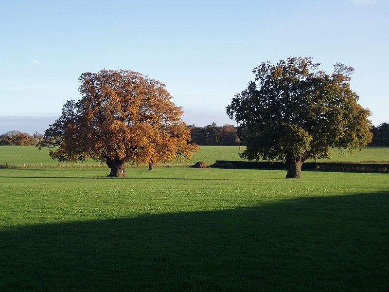
[[[239,150],[238,146],[201,146],[200,151],[193,155],[192,161],[186,160],[184,164],[202,161],[206,164],[213,164],[215,160],[241,160],[239,153],[244,151],[245,146]],[[339,150],[332,150],[330,161],[387,161],[389,162],[389,147],[366,147],[362,151],[354,151],[349,154],[347,151],[341,154]],[[325,161],[325,160],[319,160]],[[328,161],[328,160],[327,160]],[[38,150],[35,146],[0,146],[0,164],[8,165],[64,165],[51,159],[49,149]],[[68,163],[69,164],[69,163]],[[88,160],[82,165],[97,164]],[[174,163],[177,164],[177,163]]]

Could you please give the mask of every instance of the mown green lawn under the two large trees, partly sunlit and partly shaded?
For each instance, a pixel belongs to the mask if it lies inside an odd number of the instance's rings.
[[[387,291],[386,173],[0,169],[1,291]]]

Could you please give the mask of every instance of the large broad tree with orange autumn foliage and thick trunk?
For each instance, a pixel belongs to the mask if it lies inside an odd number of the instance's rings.
[[[61,162],[105,162],[108,176],[125,177],[125,164],[166,163],[191,157],[183,111],[158,80],[133,71],[101,70],[79,79],[82,99],[68,101],[39,148]]]

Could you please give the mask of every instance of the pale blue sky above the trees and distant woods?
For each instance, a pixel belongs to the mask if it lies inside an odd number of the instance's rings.
[[[354,67],[351,88],[389,122],[389,0],[0,0],[0,134],[43,133],[78,78],[158,79],[189,125],[236,125],[226,107],[265,61]]]

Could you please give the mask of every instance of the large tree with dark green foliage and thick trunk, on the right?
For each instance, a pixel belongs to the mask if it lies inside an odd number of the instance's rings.
[[[242,158],[286,161],[286,178],[300,178],[305,160],[371,141],[371,113],[350,88],[354,69],[337,63],[329,75],[318,66],[310,57],[289,57],[253,70],[254,81],[227,107],[240,135],[247,135]]]

